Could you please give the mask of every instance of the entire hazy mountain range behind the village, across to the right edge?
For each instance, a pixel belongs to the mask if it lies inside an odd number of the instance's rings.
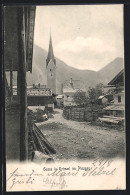
[[[27,84],[44,84],[46,85],[46,57],[47,51],[34,45],[33,50],[33,69],[32,73],[27,73]],[[56,58],[56,68],[57,68],[57,93],[61,93],[61,84],[70,78],[81,80],[86,89],[89,86],[93,87],[99,82],[107,84],[122,68],[123,59],[116,58],[114,61],[110,62],[104,68],[99,71],[92,70],[79,70],[68,66],[62,60]],[[9,82],[9,74],[7,75],[7,80]],[[14,73],[14,85],[16,85],[17,76]]]

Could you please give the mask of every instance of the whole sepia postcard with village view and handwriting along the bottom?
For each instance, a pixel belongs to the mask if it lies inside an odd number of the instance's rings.
[[[123,4],[3,13],[6,190],[125,189]]]

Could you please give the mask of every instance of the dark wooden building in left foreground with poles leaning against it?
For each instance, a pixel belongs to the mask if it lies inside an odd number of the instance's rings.
[[[35,10],[35,6],[4,7],[4,71],[10,72],[10,86],[5,78],[8,161],[29,160],[34,150],[46,154],[55,152],[27,110],[26,72],[32,72]],[[13,71],[17,71],[17,101],[13,99]]]

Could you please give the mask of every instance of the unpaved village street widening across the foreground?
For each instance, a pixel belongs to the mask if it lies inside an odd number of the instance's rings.
[[[59,160],[85,160],[96,157],[124,157],[125,132],[66,120],[55,109],[48,121],[37,123],[57,151]]]

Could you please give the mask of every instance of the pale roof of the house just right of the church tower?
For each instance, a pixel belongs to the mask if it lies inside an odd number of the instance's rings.
[[[80,80],[66,80],[63,83],[63,92],[76,92],[78,90],[85,91],[84,83]]]

